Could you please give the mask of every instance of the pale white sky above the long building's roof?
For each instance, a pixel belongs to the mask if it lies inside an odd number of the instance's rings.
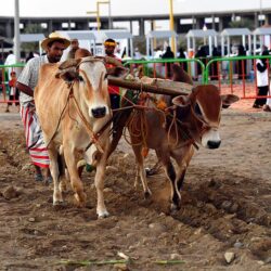
[[[105,1],[105,0],[103,0]],[[172,0],[175,13],[271,9],[271,0]],[[21,16],[86,16],[96,0],[20,0]],[[0,0],[0,16],[13,16],[14,0]],[[4,7],[4,8],[3,8]],[[169,0],[111,0],[112,15],[168,14]],[[101,5],[108,15],[108,5]],[[94,15],[90,15],[94,16]]]

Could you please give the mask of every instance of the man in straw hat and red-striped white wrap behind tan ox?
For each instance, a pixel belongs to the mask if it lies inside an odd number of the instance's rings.
[[[39,69],[46,63],[60,62],[63,51],[70,41],[57,33],[52,33],[42,40],[41,48],[47,52],[44,55],[34,57],[27,62],[21,73],[16,87],[20,90],[21,117],[25,128],[26,145],[29,150],[31,162],[36,169],[36,181],[43,181],[41,168],[44,168],[46,182],[50,182],[49,156],[43,142],[42,131],[37,118],[34,90],[38,83]]]

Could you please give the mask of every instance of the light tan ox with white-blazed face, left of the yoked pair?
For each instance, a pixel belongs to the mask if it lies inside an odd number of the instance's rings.
[[[55,76],[56,75],[56,76]],[[64,158],[78,206],[86,203],[82,182],[78,176],[78,154],[87,163],[96,162],[94,183],[98,192],[96,214],[106,217],[103,188],[109,144],[108,128],[96,139],[96,132],[112,118],[106,69],[102,60],[83,57],[61,65],[46,64],[39,73],[35,89],[39,121],[48,144],[50,169],[54,181],[53,204],[63,202],[60,182],[64,171],[59,165],[59,150]],[[93,142],[86,152],[86,147]]]

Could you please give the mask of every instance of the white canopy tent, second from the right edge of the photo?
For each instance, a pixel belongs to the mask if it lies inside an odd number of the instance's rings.
[[[228,54],[230,54],[230,44],[231,44],[231,37],[241,36],[242,37],[242,44],[246,48],[246,37],[248,39],[248,52],[251,52],[251,31],[248,28],[225,28],[221,31],[221,51],[222,56],[224,56],[224,41],[227,39],[227,50]]]

